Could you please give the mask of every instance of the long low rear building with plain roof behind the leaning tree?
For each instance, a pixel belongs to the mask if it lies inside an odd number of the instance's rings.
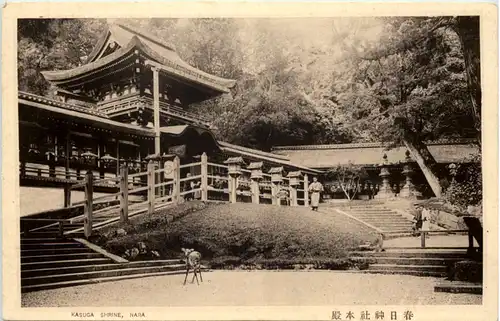
[[[470,139],[430,141],[426,145],[437,162],[437,171],[450,180],[450,164],[480,154],[474,140]],[[276,146],[272,152],[288,157],[294,164],[325,173],[338,165],[362,166],[367,176],[359,182],[357,198],[427,198],[434,195],[419,166],[402,146],[390,149],[382,143]],[[325,185],[326,198],[345,198],[338,181],[325,178]]]

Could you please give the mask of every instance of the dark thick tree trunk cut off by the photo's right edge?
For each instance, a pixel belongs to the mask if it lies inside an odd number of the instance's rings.
[[[457,17],[457,23],[454,29],[462,44],[467,86],[472,104],[472,116],[474,117],[474,127],[478,131],[477,136],[479,142],[481,142],[481,55],[479,17]]]

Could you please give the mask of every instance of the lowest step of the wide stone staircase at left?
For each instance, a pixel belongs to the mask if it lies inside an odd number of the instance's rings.
[[[136,278],[145,278],[145,277],[151,277],[151,276],[175,275],[175,274],[183,274],[183,273],[185,273],[184,270],[179,270],[179,271],[167,271],[167,272],[159,272],[159,273],[132,274],[132,275],[122,275],[122,276],[115,276],[115,277],[104,277],[104,278],[95,278],[95,279],[85,279],[85,280],[74,280],[74,281],[37,284],[37,285],[22,286],[21,292],[25,293],[25,292],[30,292],[30,291],[49,290],[49,289],[56,289],[56,288],[62,288],[62,287],[68,287],[68,286],[103,283],[103,282],[120,281],[120,280],[127,280],[127,279],[136,279]],[[183,281],[184,281],[183,279],[181,280],[181,278],[179,278],[179,284],[182,284]]]

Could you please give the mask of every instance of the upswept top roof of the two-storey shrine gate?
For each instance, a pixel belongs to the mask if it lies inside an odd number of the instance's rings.
[[[101,57],[110,42],[118,44],[120,48]],[[83,78],[92,79],[96,73],[112,70],[114,66],[133,57],[136,50],[147,59],[160,64],[163,72],[202,88],[227,93],[236,83],[235,80],[217,77],[192,67],[180,58],[172,46],[146,31],[122,23],[108,25],[108,30],[99,40],[85,65],[70,70],[44,71],[42,74],[46,80],[59,86],[75,83]]]

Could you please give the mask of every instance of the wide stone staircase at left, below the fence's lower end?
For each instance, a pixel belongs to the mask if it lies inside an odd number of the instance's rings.
[[[74,239],[21,238],[21,292],[147,276],[181,274],[182,260],[121,263]]]

